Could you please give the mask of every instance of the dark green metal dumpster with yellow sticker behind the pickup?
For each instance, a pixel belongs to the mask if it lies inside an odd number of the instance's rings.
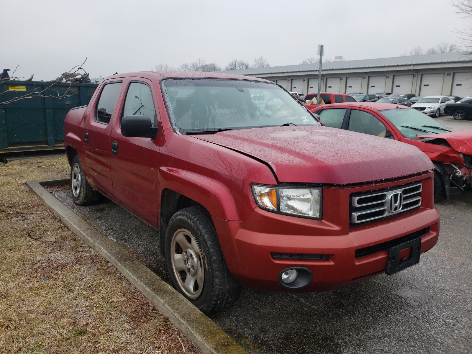
[[[98,84],[58,83],[41,93],[42,96],[1,103],[40,92],[51,84],[16,80],[0,83],[0,153],[64,147],[63,127],[67,112],[88,104]],[[63,95],[68,97],[57,98]]]

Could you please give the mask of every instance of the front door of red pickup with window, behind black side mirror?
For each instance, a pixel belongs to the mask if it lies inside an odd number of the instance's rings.
[[[121,111],[113,124],[110,142],[116,152],[110,157],[113,193],[126,210],[157,225],[159,214],[158,154],[162,132],[154,138],[126,137],[121,134],[124,116],[148,116],[159,125],[159,111],[152,82],[140,78],[125,83],[126,94]],[[160,129],[161,130],[161,129]]]

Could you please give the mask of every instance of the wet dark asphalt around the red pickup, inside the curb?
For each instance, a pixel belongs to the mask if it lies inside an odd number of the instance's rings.
[[[108,199],[56,197],[168,279],[157,231]],[[472,194],[438,205],[439,242],[419,264],[335,291],[268,297],[244,288],[212,319],[254,353],[471,353]]]

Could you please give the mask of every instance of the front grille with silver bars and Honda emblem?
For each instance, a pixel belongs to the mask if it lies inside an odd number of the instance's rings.
[[[421,182],[351,194],[350,225],[395,216],[421,205]]]

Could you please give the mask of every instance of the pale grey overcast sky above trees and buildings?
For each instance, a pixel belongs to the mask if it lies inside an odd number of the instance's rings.
[[[264,56],[271,66],[316,56],[398,56],[456,42],[471,26],[448,0],[8,1],[0,20],[0,66],[52,80],[88,57],[91,77],[178,67],[201,58],[224,68]],[[11,72],[10,72],[11,75]]]

